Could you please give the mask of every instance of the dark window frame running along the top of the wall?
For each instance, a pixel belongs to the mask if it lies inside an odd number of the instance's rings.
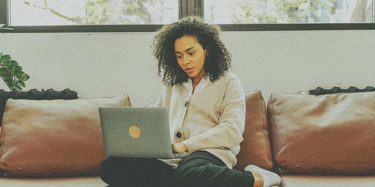
[[[10,0],[0,0],[0,23],[8,27]],[[204,0],[178,0],[178,19],[186,15],[204,15]],[[218,24],[222,31],[305,31],[305,30],[375,30],[375,0],[372,3],[371,23],[315,23],[315,24]],[[13,30],[5,33],[116,33],[116,32],[155,32],[160,24],[131,25],[46,25],[9,26]]]

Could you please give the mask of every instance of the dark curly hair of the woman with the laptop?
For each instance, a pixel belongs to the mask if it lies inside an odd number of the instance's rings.
[[[156,31],[153,37],[153,55],[158,61],[157,74],[164,70],[163,84],[168,81],[171,86],[187,82],[189,76],[178,65],[174,53],[174,42],[183,36],[195,36],[197,42],[207,49],[208,56],[205,58],[204,71],[210,76],[210,81],[218,79],[225,71],[231,67],[231,54],[220,40],[221,29],[218,25],[207,24],[204,19],[198,16],[186,16],[177,22],[164,25]]]

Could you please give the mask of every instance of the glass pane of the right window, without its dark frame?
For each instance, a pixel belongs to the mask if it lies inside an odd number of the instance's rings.
[[[205,0],[204,18],[217,24],[373,22],[372,0]]]

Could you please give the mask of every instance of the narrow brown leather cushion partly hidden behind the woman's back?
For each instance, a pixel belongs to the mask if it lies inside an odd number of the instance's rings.
[[[262,93],[257,91],[245,92],[246,120],[243,141],[237,154],[237,164],[234,169],[245,169],[248,165],[272,170],[272,153],[269,140],[266,104]]]

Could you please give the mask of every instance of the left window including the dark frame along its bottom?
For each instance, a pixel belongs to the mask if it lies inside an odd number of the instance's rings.
[[[17,33],[153,32],[179,12],[178,0],[0,1],[0,23]]]

